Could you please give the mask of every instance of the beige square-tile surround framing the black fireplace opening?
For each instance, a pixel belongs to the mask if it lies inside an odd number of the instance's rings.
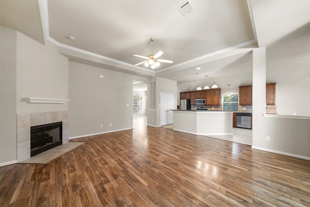
[[[62,143],[69,142],[69,112],[51,111],[17,114],[17,162],[30,158],[30,127],[62,122]]]

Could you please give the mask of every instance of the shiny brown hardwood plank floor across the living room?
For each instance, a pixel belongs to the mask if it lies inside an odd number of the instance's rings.
[[[0,206],[310,206],[309,160],[138,124],[1,167]]]

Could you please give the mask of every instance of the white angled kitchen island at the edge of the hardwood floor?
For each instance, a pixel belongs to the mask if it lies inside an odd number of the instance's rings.
[[[233,135],[233,111],[173,111],[173,130],[196,135]]]

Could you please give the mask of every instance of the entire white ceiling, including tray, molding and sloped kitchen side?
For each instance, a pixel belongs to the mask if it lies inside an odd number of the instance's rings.
[[[286,81],[309,81],[309,0],[191,0],[196,9],[183,16],[178,7],[185,2],[1,0],[0,23],[40,43],[48,39],[71,61],[143,77],[153,71],[135,66],[144,59],[133,54],[151,54],[153,37],[153,53],[162,50],[160,59],[174,61],[155,74],[178,81],[181,91],[196,88],[205,75],[222,88],[251,84],[251,50],[264,46],[267,81],[285,79],[281,74],[300,62],[300,76]]]

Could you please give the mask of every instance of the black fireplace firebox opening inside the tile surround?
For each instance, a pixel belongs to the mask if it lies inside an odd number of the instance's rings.
[[[62,122],[31,127],[31,157],[61,144]]]

